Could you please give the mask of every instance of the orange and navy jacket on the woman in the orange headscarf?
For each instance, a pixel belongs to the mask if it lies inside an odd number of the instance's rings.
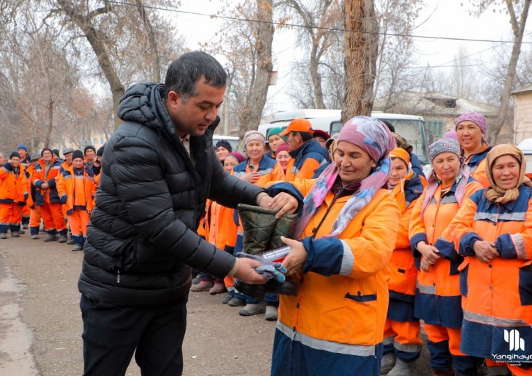
[[[388,283],[390,297],[388,318],[390,320],[401,322],[417,320],[413,311],[417,267],[414,265],[414,255],[410,248],[408,226],[414,204],[423,194],[423,190],[420,177],[413,171],[392,190],[392,196],[401,210],[401,221],[394,252],[389,261],[391,276]]]

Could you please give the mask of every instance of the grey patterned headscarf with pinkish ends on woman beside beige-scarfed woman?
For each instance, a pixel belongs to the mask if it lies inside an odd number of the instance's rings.
[[[460,155],[460,144],[458,141],[453,139],[441,139],[430,144],[428,147],[428,157],[430,158],[430,163],[432,164],[433,160],[437,155],[442,154],[442,152],[452,152],[458,156],[460,159],[460,171],[456,177],[456,201],[458,205],[462,205],[462,200],[465,196],[465,187],[467,186],[467,180],[469,180],[469,167],[465,164],[465,159]],[[426,208],[432,201],[434,194],[436,193],[438,187],[440,186],[441,181],[436,176],[434,169],[430,171],[427,180],[427,194],[425,200],[423,201],[423,209],[421,209],[421,218],[425,213]]]

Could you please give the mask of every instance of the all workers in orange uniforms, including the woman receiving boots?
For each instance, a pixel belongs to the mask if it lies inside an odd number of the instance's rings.
[[[430,145],[428,176],[373,118],[350,119],[336,139],[305,119],[249,131],[245,157],[220,141],[228,173],[301,197],[283,262],[298,292],[260,301],[201,273],[191,290],[227,292],[240,315],[277,320],[272,375],[415,375],[421,320],[433,375],[532,375],[532,181],[523,153],[490,146],[486,132],[484,116],[462,113]],[[38,238],[42,218],[45,241],[67,242],[68,223],[83,249],[101,165],[85,151],[65,150],[64,162],[48,148],[0,155],[1,239],[19,237],[24,217]],[[208,202],[198,233],[241,251],[237,214]]]

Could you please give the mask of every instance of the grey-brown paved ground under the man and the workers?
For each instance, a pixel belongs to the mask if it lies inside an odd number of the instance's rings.
[[[83,373],[77,280],[82,252],[67,244],[0,240],[0,375]],[[191,292],[184,375],[268,375],[275,322],[241,317],[221,295]],[[429,375],[426,350],[418,374]],[[134,361],[127,375],[140,375]]]

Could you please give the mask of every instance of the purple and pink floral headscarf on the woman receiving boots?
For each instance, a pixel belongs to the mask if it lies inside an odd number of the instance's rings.
[[[341,234],[349,222],[371,201],[376,191],[385,185],[390,171],[388,154],[395,148],[394,136],[388,128],[380,120],[366,116],[356,116],[348,120],[341,128],[337,141],[346,141],[362,148],[376,162],[376,167],[360,182],[360,189],[342,207],[328,236]],[[316,179],[303,200],[303,212],[294,229],[294,237],[298,238],[303,233],[305,226],[325,200],[337,176],[338,167],[333,162]]]

